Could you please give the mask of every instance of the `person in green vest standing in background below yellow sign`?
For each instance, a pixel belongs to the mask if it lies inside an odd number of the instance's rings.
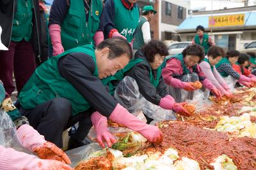
[[[200,45],[204,47],[205,55],[208,52],[210,46],[215,45],[214,41],[212,41],[211,36],[204,33],[205,29],[202,25],[198,25],[196,27],[197,35],[192,39],[192,45]]]

